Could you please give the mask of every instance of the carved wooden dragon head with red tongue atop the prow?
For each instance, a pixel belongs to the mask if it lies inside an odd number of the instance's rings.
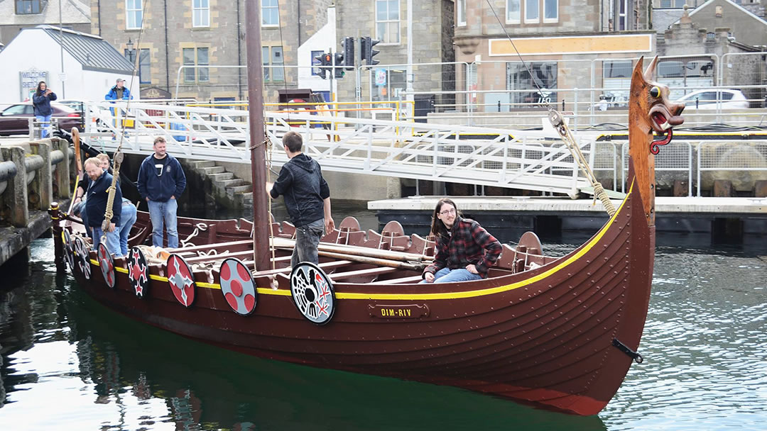
[[[671,142],[672,127],[684,122],[681,116],[684,103],[671,102],[669,88],[652,80],[658,57],[650,61],[650,65],[644,72],[642,71],[643,61],[644,57],[637,61],[631,77],[633,103],[629,106],[629,118],[634,119],[634,127],[638,127],[645,136],[650,136],[650,140],[652,132],[663,136],[663,139],[650,143],[650,152],[657,154],[658,145]]]

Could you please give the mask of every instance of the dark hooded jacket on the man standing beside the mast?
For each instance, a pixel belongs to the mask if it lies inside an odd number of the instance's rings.
[[[324,217],[323,201],[330,198],[331,191],[320,164],[301,153],[282,166],[271,194],[275,199],[285,196],[291,222],[301,227]]]

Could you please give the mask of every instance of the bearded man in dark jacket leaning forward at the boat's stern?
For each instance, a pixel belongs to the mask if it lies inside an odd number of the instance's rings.
[[[94,248],[101,242],[101,236],[104,235],[102,224],[104,223],[104,214],[107,212],[107,199],[109,198],[109,188],[112,185],[112,175],[101,168],[101,162],[98,158],[88,158],[84,163],[85,173],[91,179],[88,185],[85,198],[85,211],[87,214],[87,228],[93,233]],[[112,203],[112,220],[107,227],[107,251],[114,253],[115,256],[122,256],[120,253],[120,237],[117,236],[116,226],[120,224],[120,215],[123,207],[123,193],[120,191],[120,184],[115,184],[114,201]]]

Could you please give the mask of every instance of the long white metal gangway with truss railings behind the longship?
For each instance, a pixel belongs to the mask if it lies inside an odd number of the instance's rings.
[[[153,139],[164,136],[168,151],[175,157],[250,163],[246,109],[143,102],[86,106],[83,136],[102,151],[114,151],[123,139],[123,152],[147,155],[153,151]],[[333,109],[265,112],[267,158],[275,167],[287,162],[281,136],[295,131],[304,137],[304,153],[316,159],[324,171],[519,188],[571,197],[589,185],[553,129],[519,131],[357,119],[341,114]],[[397,116],[393,112],[391,118]],[[579,139],[578,145],[593,165],[593,140]]]

